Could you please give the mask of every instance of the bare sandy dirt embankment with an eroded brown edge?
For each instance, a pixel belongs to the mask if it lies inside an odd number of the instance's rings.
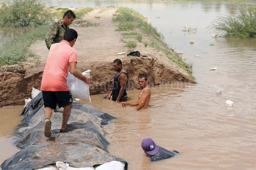
[[[115,31],[118,25],[112,22],[116,8],[106,8],[104,12],[99,13],[100,9],[102,7],[94,8],[82,20],[75,20],[76,23],[91,22],[99,23],[100,26],[86,28],[70,25],[70,28],[78,32],[78,39],[74,45],[78,53],[78,68],[81,71],[88,69],[92,71],[91,95],[109,92],[115,74],[112,69],[112,62],[116,58],[121,59],[123,68],[128,72],[128,90],[139,88],[137,85],[139,73],[148,75],[150,86],[174,82],[194,83],[190,75],[165,57],[163,52],[149,45],[145,47],[143,42],[150,42],[150,38],[147,36],[143,36],[142,42],[137,42],[135,51],[138,50],[142,55],[148,57],[127,57],[127,48],[121,41],[121,33]],[[134,31],[140,32],[140,30]],[[40,65],[26,62],[20,65],[20,70],[23,71],[21,73],[13,73],[14,66],[0,67],[0,107],[24,105],[24,99],[31,98],[32,87],[40,88],[48,49],[44,41],[33,43],[30,49],[34,50],[40,57]],[[126,52],[126,54],[117,55],[119,52]]]

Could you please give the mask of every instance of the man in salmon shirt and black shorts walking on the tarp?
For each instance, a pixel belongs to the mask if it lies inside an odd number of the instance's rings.
[[[70,71],[76,78],[90,84],[92,76],[84,76],[77,68],[77,52],[72,48],[77,39],[74,29],[67,29],[63,40],[51,46],[45,64],[40,90],[43,93],[44,102],[44,135],[51,137],[51,115],[52,110],[64,107],[60,132],[68,132],[76,127],[67,125],[71,114],[72,97],[67,86],[67,74]]]

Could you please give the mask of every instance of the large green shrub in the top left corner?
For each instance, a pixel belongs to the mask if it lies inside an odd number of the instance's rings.
[[[0,8],[0,27],[36,27],[50,18],[39,0],[9,0]]]

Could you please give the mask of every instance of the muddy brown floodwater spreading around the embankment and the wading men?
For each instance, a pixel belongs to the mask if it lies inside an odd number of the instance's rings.
[[[66,1],[47,3],[63,3]],[[75,6],[79,2],[80,6]],[[73,5],[98,6],[93,1]],[[250,2],[256,6],[255,2]],[[51,5],[51,4],[48,4]],[[53,4],[52,4],[53,5]],[[254,39],[214,38],[206,27],[217,16],[237,12],[236,2],[101,2],[100,6],[128,6],[147,15],[164,34],[165,42],[183,51],[193,65],[198,84],[151,87],[150,108],[136,111],[92,95],[91,105],[117,119],[104,126],[109,152],[128,162],[130,170],[254,170],[256,165],[256,42]],[[57,5],[56,5],[57,6]],[[194,34],[182,29],[197,28]],[[190,41],[194,44],[190,44]],[[210,46],[209,44],[214,44]],[[217,67],[218,70],[210,70]],[[114,72],[113,72],[114,76]],[[221,94],[216,94],[218,89]],[[130,101],[139,90],[128,91]],[[227,100],[232,107],[225,106]],[[0,108],[0,162],[19,150],[13,145],[23,106]],[[143,138],[180,154],[150,162],[141,148]]]

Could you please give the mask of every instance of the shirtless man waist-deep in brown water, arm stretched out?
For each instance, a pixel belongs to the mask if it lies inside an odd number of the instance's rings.
[[[122,106],[137,106],[137,110],[140,110],[141,108],[148,108],[151,92],[150,88],[147,86],[147,75],[140,74],[138,77],[139,85],[141,88],[138,101],[135,102],[121,102]]]

